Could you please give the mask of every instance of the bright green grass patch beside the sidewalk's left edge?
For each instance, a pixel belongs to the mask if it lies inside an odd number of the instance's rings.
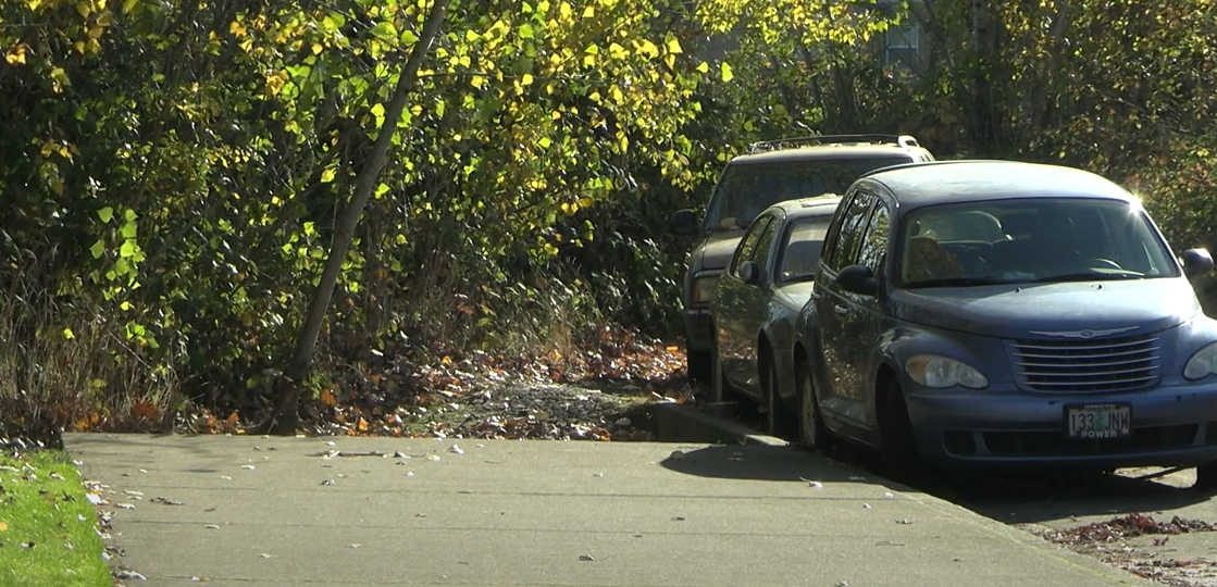
[[[96,524],[67,455],[0,456],[0,586],[113,585]]]

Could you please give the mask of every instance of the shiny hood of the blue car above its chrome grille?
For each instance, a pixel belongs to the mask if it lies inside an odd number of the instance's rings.
[[[1200,311],[1185,278],[898,289],[893,315],[907,322],[1000,338],[1043,332],[1157,332]],[[1131,329],[1135,327],[1135,329]],[[1112,333],[1116,334],[1116,333]]]

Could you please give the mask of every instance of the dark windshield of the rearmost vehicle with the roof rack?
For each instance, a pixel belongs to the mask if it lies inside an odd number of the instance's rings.
[[[859,175],[910,160],[908,157],[884,157],[730,165],[706,210],[705,228],[745,228],[762,210],[778,202],[845,193]]]

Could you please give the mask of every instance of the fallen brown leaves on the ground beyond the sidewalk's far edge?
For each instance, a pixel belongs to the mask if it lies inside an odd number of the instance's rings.
[[[301,410],[304,433],[459,439],[652,440],[640,410],[686,402],[683,349],[605,328],[584,350],[497,356],[437,349],[438,359],[374,352],[331,369]],[[179,431],[245,434],[251,424],[196,408]]]

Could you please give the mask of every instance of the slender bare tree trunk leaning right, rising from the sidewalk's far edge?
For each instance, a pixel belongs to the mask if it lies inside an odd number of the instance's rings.
[[[316,290],[313,293],[313,299],[309,301],[308,315],[301,328],[299,338],[296,339],[296,351],[292,355],[292,361],[275,382],[275,391],[280,396],[279,403],[270,418],[258,427],[258,434],[291,435],[296,433],[296,428],[299,425],[298,406],[302,384],[313,368],[313,352],[316,349],[316,339],[321,333],[321,324],[325,322],[325,316],[330,309],[330,298],[333,295],[333,288],[338,282],[342,261],[347,258],[355,227],[359,225],[359,216],[363,214],[364,205],[368,204],[368,199],[376,187],[381,168],[385,166],[385,158],[388,154],[393,134],[397,132],[397,124],[402,119],[402,111],[405,108],[405,100],[417,81],[419,67],[431,51],[431,44],[439,33],[439,26],[443,23],[447,12],[447,1],[436,0],[431,7],[431,13],[427,15],[422,33],[419,35],[419,43],[410,51],[410,58],[406,60],[405,67],[402,69],[402,74],[397,80],[397,88],[393,89],[393,96],[385,107],[385,122],[376,135],[376,143],[368,156],[368,160],[364,163],[363,169],[359,170],[355,192],[350,196],[350,202],[346,208],[340,211],[333,242],[330,244],[330,256],[326,259],[321,282],[318,284]]]

